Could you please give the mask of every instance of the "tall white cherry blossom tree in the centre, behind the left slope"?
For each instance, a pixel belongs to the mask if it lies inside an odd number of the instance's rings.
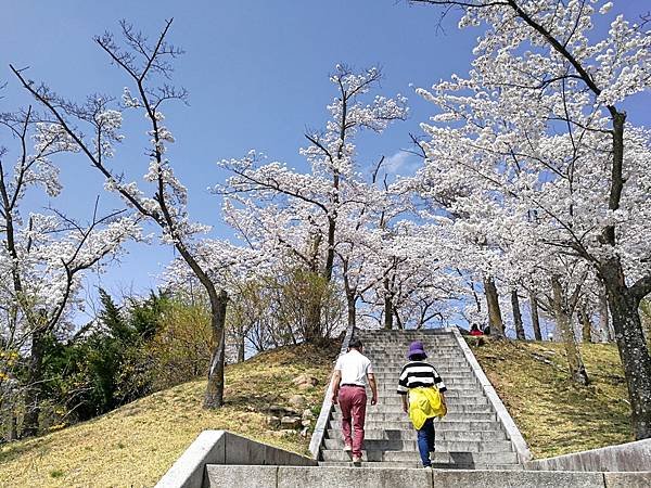
[[[290,252],[326,283],[333,280],[339,256],[348,321],[354,323],[362,293],[355,277],[363,266],[357,241],[382,213],[385,201],[374,178],[366,182],[359,172],[355,139],[362,130],[380,133],[404,119],[407,107],[400,95],[367,101],[381,79],[376,68],[355,73],[339,65],[330,79],[337,93],[328,105],[331,118],[323,130],[306,133],[309,145],[301,151],[311,172],[299,174],[281,163],[260,164],[259,155],[252,152],[221,162],[232,176],[215,191],[226,195],[227,220],[248,243],[271,254]],[[315,331],[321,317],[319,304],[315,300],[309,319]],[[316,335],[308,331],[305,338]]]

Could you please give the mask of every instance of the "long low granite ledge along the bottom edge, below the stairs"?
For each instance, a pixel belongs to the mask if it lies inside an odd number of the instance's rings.
[[[638,488],[651,473],[208,466],[209,488]]]

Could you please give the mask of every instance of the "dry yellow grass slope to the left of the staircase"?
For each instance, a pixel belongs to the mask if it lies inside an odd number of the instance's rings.
[[[90,422],[0,451],[2,487],[153,486],[204,429],[227,429],[294,452],[309,438],[267,436],[269,395],[286,404],[292,380],[310,374],[319,384],[301,391],[310,408],[321,406],[336,348],[285,347],[227,368],[227,404],[202,408],[205,381],[197,380],[133,401]]]

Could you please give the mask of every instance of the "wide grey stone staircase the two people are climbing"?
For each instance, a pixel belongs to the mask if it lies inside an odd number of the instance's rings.
[[[430,361],[447,386],[448,414],[435,421],[436,452],[432,466],[464,470],[520,470],[518,453],[488,400],[455,333],[449,330],[355,331],[365,345],[378,380],[379,400],[367,408],[362,465],[418,467],[417,436],[396,393],[398,376],[412,341],[422,341]],[[370,391],[369,398],[370,398]],[[319,465],[350,465],[343,451],[341,411],[330,414]]]

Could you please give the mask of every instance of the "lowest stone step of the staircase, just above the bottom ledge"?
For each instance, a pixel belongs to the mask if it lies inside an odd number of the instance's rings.
[[[350,461],[350,454],[342,449],[323,449],[321,450],[322,461]],[[361,451],[362,461],[374,462],[419,462],[420,454],[418,451]],[[436,451],[431,454],[433,463],[449,463],[449,464],[510,464],[518,463],[518,454],[515,452],[443,452]]]

